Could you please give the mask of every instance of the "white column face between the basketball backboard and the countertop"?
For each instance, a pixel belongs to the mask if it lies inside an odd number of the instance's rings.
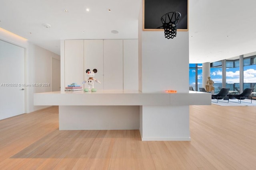
[[[143,31],[142,42],[142,92],[188,92],[188,31],[178,31],[174,39],[164,38],[163,31]]]

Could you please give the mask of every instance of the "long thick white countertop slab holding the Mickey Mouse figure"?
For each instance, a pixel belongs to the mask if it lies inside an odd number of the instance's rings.
[[[57,91],[34,94],[40,106],[182,106],[210,105],[204,92],[140,92],[139,90],[98,90],[97,92]]]

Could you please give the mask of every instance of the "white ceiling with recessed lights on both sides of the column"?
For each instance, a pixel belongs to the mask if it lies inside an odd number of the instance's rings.
[[[138,38],[142,0],[0,1],[1,28],[56,54],[62,39]],[[255,0],[189,0],[190,63],[256,51],[255,6]]]

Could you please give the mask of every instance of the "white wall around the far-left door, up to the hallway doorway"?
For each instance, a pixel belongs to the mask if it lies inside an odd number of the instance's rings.
[[[24,47],[25,54],[25,83],[51,83],[51,59],[59,59],[60,56],[42,47],[38,47],[28,40],[14,35],[4,29],[0,29],[0,39],[20,47]],[[26,87],[25,113],[30,113],[44,108],[34,106],[34,93],[49,92],[51,87]]]

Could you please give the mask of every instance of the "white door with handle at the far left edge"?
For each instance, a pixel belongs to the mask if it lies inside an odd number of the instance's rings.
[[[0,119],[24,113],[24,48],[0,41]]]

